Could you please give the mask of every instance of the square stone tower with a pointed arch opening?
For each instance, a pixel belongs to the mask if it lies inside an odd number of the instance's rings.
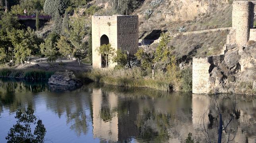
[[[93,68],[114,68],[117,63],[106,63],[102,55],[96,51],[103,44],[111,44],[117,48],[136,53],[138,49],[138,15],[94,15],[92,24]]]

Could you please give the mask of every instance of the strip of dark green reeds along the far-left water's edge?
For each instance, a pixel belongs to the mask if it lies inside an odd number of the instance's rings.
[[[53,71],[44,71],[38,69],[0,68],[0,77],[10,78],[42,80],[50,78],[53,73]]]

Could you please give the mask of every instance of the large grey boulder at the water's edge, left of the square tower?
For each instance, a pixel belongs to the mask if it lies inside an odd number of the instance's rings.
[[[49,78],[48,84],[74,87],[79,87],[82,85],[81,81],[76,79],[74,73],[70,71],[55,73]]]

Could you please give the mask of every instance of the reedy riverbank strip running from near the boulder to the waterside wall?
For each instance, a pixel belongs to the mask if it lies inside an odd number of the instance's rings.
[[[78,78],[84,81],[95,81],[123,87],[145,87],[164,91],[183,92],[190,92],[192,90],[192,73],[190,69],[177,73],[156,71],[155,79],[152,79],[151,75],[145,72],[146,71],[140,68],[132,68],[129,70],[93,69],[81,73],[78,75]]]

